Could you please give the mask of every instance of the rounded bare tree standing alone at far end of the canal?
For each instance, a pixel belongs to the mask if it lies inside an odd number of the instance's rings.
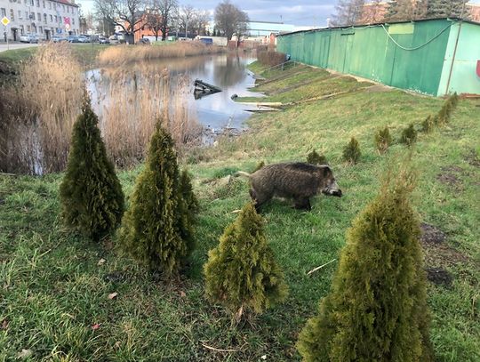
[[[238,37],[244,35],[248,29],[248,22],[247,13],[231,4],[229,0],[224,0],[215,8],[215,26],[228,40],[234,34]]]

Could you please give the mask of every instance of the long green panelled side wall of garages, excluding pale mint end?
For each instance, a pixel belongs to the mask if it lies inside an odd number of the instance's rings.
[[[278,36],[292,60],[437,95],[451,20],[328,28]]]

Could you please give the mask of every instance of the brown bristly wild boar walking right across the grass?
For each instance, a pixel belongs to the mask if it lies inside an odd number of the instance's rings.
[[[297,209],[311,210],[310,197],[318,193],[341,197],[341,189],[328,165],[304,162],[266,165],[250,174],[237,174],[250,179],[250,196],[257,211],[272,197],[292,198]]]

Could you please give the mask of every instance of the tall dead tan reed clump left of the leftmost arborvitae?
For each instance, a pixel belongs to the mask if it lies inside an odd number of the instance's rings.
[[[62,171],[67,165],[72,126],[84,93],[82,68],[68,44],[46,44],[20,70],[20,89],[34,115],[39,149],[35,173]]]

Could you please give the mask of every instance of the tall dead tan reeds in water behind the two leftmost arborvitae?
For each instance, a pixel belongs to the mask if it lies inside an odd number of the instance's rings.
[[[177,149],[196,140],[201,127],[188,107],[188,80],[164,69],[108,69],[89,84],[108,155],[119,167],[138,164],[148,151],[156,122],[172,133]],[[93,87],[93,88],[92,88]]]

